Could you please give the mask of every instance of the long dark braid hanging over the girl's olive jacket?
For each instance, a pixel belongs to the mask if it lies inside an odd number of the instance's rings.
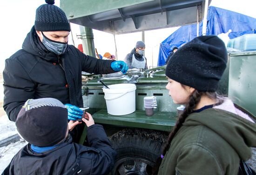
[[[184,87],[184,85],[182,85]],[[195,90],[190,96],[189,101],[186,104],[186,107],[180,116],[178,116],[178,120],[176,121],[176,124],[173,128],[173,130],[168,135],[167,141],[162,146],[162,156],[165,156],[166,152],[168,151],[171,142],[173,138],[175,137],[175,134],[179,131],[179,129],[182,127],[182,124],[184,123],[185,119],[189,116],[189,114],[193,113],[193,110],[195,109],[195,106],[199,103],[201,100],[202,95],[208,96],[210,99],[216,100],[215,105],[219,105],[223,102],[222,97],[220,97],[216,92],[200,92],[198,90]],[[159,157],[155,163],[155,166],[153,167],[153,175],[157,175],[159,167],[162,162],[162,157]]]

